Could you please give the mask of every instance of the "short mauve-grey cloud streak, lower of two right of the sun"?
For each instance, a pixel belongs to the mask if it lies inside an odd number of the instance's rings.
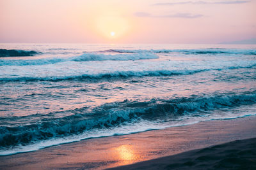
[[[200,18],[204,15],[191,14],[191,13],[175,13],[173,15],[151,15],[150,13],[137,12],[134,13],[136,17],[152,17],[152,18]]]

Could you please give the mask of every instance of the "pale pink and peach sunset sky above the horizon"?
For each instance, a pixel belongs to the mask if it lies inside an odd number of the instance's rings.
[[[256,38],[256,0],[0,0],[1,43],[220,43]]]

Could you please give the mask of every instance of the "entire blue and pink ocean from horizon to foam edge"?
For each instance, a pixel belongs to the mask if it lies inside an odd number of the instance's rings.
[[[0,155],[256,115],[256,45],[0,49]]]

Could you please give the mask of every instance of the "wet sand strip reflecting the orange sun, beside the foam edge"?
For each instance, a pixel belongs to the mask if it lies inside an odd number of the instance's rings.
[[[212,120],[158,131],[87,139],[36,152],[4,156],[0,157],[0,169],[104,169],[145,160],[154,162],[155,160],[150,159],[170,155],[185,159],[189,153],[194,154],[200,151],[182,152],[249,138],[256,138],[256,117]],[[255,141],[255,139],[251,140]],[[245,146],[245,144],[238,144],[233,148]],[[232,148],[231,145],[230,147]],[[248,147],[246,149],[250,150]],[[177,153],[185,156],[175,155]],[[206,154],[206,152],[203,153]],[[172,166],[172,162],[166,158],[160,159],[166,162],[167,166]],[[188,164],[193,164],[193,160],[191,160],[192,163],[189,161],[187,161]],[[139,164],[145,164],[145,162]],[[147,164],[150,163],[147,162]]]

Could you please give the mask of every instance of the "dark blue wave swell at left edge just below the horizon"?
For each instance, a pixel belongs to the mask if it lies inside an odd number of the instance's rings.
[[[23,57],[23,56],[34,56],[41,52],[26,51],[26,50],[6,50],[0,49],[0,57]]]

